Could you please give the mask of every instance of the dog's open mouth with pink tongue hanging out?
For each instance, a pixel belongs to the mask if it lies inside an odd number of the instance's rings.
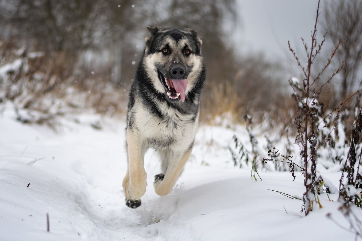
[[[186,79],[167,79],[163,76],[160,70],[157,70],[159,79],[165,88],[167,98],[171,101],[177,101],[181,99],[182,102],[185,101],[186,97]]]

